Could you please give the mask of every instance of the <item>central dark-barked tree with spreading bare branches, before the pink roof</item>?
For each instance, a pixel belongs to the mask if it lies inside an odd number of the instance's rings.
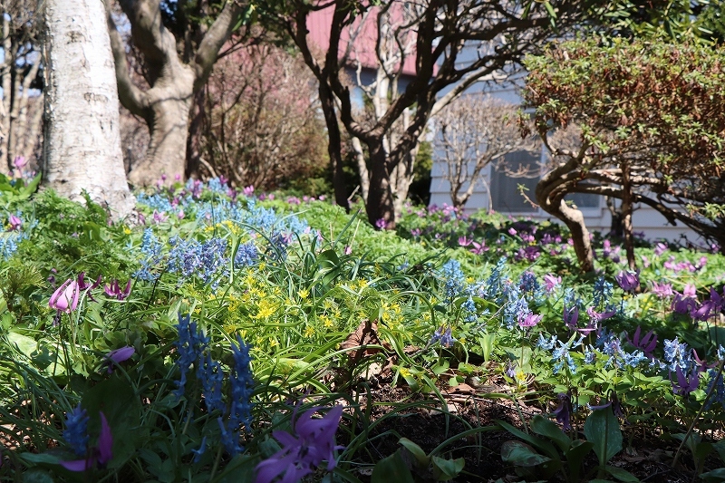
[[[353,108],[350,85],[346,81],[348,74],[344,69],[346,65],[354,65],[350,58],[354,49],[352,43],[343,39],[353,39],[350,29],[363,13],[372,8],[382,12],[393,8],[391,5],[395,4],[386,0],[376,5],[372,7],[368,3],[346,0],[324,3],[294,0],[285,6],[264,5],[263,8],[269,9],[266,11],[268,18],[285,29],[300,49],[304,62],[321,84],[320,98],[323,105],[327,103],[335,107],[334,110],[328,108],[324,112],[331,134],[331,162],[339,163],[342,158],[342,146],[336,136],[338,126],[342,124],[351,138],[360,140],[368,147],[368,219],[371,223],[383,219],[388,222],[388,227],[394,227],[396,199],[391,193],[391,175],[401,161],[410,159],[406,156],[415,150],[430,117],[474,82],[491,78],[494,74],[510,72],[525,54],[544,45],[553,34],[552,19],[544,5],[533,1],[431,0],[409,5],[411,8],[404,14],[413,15],[414,20],[402,24],[399,31],[386,38],[391,38],[399,46],[407,42],[405,39],[414,39],[412,51],[401,48],[401,52],[410,53],[409,58],[414,57],[416,76],[404,91],[391,89],[390,98],[385,100],[385,109],[376,113],[374,121],[366,121]],[[560,28],[577,24],[584,13],[584,4],[579,2],[548,2],[547,5],[556,10],[556,23]],[[307,35],[308,16],[324,8],[333,8],[329,42],[313,45]],[[379,25],[390,27],[390,24]],[[378,38],[373,42],[372,54],[377,56],[377,62],[383,66],[390,85],[397,85],[405,58],[401,57],[397,63],[385,64],[382,55],[382,31],[385,28],[374,29]],[[346,29],[347,37],[343,35]],[[481,49],[478,57],[470,63],[462,64],[459,62],[459,53],[470,43],[481,43],[487,48]],[[322,49],[322,56],[314,55],[317,49]],[[450,86],[453,86],[452,89]],[[441,96],[444,89],[448,91]],[[400,135],[391,137],[391,131],[397,129],[404,115],[410,115],[410,122],[407,122]],[[394,141],[389,142],[391,139]],[[384,146],[384,143],[389,145]],[[333,169],[337,173],[337,168]],[[343,185],[336,183],[335,186],[335,198],[342,202],[346,195],[340,191]]]

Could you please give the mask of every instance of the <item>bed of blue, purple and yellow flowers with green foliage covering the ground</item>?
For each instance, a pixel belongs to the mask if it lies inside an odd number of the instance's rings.
[[[725,258],[191,180],[111,223],[0,182],[14,481],[725,479]]]

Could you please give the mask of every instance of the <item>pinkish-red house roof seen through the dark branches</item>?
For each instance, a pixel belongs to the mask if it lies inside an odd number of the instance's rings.
[[[370,13],[365,20],[365,23],[362,25],[362,32],[358,34],[355,40],[354,48],[350,49],[348,64],[352,67],[355,67],[357,65],[356,61],[359,61],[360,63],[362,63],[362,67],[368,69],[378,68],[379,62],[377,55],[375,54],[375,43],[378,34],[377,25],[375,24],[377,19],[377,8],[378,7],[371,8]],[[307,17],[307,30],[309,31],[309,38],[312,40],[312,43],[314,45],[324,50],[325,52],[330,44],[330,30],[331,24],[333,22],[333,12],[334,5],[330,5],[324,10],[317,10],[312,12]],[[339,59],[343,58],[345,49],[347,48],[348,43],[350,43],[350,29],[356,29],[359,27],[359,25],[360,20],[358,19],[353,23],[352,27],[348,26],[344,28],[343,33],[340,37],[340,47],[338,49]],[[414,35],[414,33],[411,35]],[[402,65],[402,73],[405,75],[416,74],[414,50],[412,53],[405,57]]]

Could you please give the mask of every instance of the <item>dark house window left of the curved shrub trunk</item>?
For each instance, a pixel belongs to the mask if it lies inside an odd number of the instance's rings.
[[[516,151],[506,155],[506,164],[511,170],[520,167],[524,169],[537,169],[539,156],[528,151]],[[491,168],[491,201],[496,211],[510,211],[514,213],[533,213],[536,208],[531,206],[521,195],[518,185],[524,185],[528,198],[535,200],[536,178],[517,178],[507,175],[503,170]]]

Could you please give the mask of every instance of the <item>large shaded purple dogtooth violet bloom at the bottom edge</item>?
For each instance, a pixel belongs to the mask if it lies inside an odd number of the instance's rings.
[[[312,408],[299,418],[295,418],[295,409],[292,418],[294,434],[272,432],[275,440],[282,444],[282,449],[256,465],[256,483],[271,483],[283,472],[285,475],[280,483],[295,483],[312,473],[325,459],[327,471],[334,469],[334,451],[343,448],[334,444],[334,434],[343,417],[343,406],[334,406],[322,418],[313,418],[314,413],[322,409]]]

